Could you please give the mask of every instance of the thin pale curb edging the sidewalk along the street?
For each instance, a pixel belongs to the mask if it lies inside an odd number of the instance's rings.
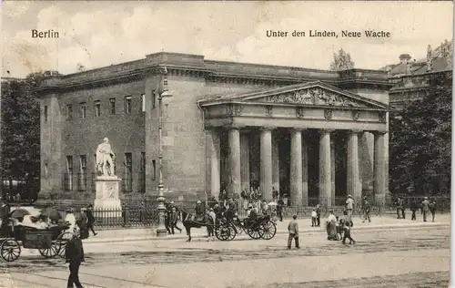
[[[427,225],[416,225],[416,224],[405,224],[405,225],[384,225],[384,226],[361,226],[354,228],[355,230],[358,231],[381,231],[381,230],[396,230],[399,228],[406,228],[406,229],[419,229],[422,227],[450,227],[450,223],[434,223],[434,224],[427,224]],[[155,231],[153,231],[155,233]],[[325,234],[326,231],[324,230],[310,230],[310,229],[305,229],[299,231],[300,233],[306,233],[306,234]],[[283,235],[283,234],[288,234],[288,231],[285,230],[277,230],[276,235]],[[245,234],[238,235],[239,237],[245,236]],[[206,238],[206,236],[201,236],[201,235],[194,235],[191,237],[192,239],[203,239]],[[178,234],[177,236],[167,236],[167,237],[157,237],[157,236],[131,236],[131,237],[125,237],[123,239],[116,239],[116,238],[106,238],[106,239],[100,239],[96,240],[92,238],[93,240],[89,240],[85,242],[85,244],[97,244],[97,243],[106,243],[106,242],[141,242],[141,241],[172,241],[172,240],[182,240],[182,239],[187,239],[187,234],[182,233],[181,235]],[[237,237],[236,237],[237,239]]]

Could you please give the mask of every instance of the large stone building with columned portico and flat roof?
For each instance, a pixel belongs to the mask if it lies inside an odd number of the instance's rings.
[[[156,195],[158,95],[165,196],[217,197],[272,187],[306,206],[347,194],[383,201],[388,187],[387,73],[207,60],[157,53],[40,87],[40,199],[93,201],[95,149],[116,152],[122,199]],[[172,196],[171,196],[172,195]]]

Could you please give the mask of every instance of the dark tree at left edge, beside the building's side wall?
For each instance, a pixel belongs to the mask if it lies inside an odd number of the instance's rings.
[[[39,192],[40,129],[39,98],[35,87],[41,73],[23,80],[9,80],[2,89],[2,173],[3,180],[25,183],[23,198]],[[3,184],[3,183],[2,183]]]

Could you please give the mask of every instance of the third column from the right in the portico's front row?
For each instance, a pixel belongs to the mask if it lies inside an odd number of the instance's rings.
[[[319,203],[331,208],[332,183],[330,163],[330,130],[319,136]]]

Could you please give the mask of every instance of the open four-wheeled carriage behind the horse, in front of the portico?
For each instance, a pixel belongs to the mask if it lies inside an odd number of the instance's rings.
[[[269,215],[263,215],[256,220],[240,220],[238,217],[232,221],[221,220],[215,226],[215,236],[221,241],[234,240],[242,232],[246,232],[252,239],[270,240],[277,233],[277,225],[270,220]]]

